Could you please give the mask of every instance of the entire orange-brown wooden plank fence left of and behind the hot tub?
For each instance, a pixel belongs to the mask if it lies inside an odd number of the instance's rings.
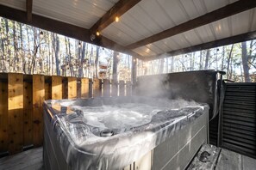
[[[44,100],[131,95],[130,82],[0,73],[0,157],[43,141]]]

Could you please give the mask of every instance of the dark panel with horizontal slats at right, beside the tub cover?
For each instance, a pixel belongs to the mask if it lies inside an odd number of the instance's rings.
[[[221,147],[256,158],[256,83],[226,83]]]

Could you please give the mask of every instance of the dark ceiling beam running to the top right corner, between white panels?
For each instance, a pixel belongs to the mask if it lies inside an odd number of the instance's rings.
[[[168,37],[172,37],[177,35],[178,33],[184,33],[196,27],[201,27],[203,25],[209,24],[213,21],[218,21],[223,18],[226,18],[231,15],[238,14],[248,9],[253,9],[256,7],[256,1],[253,0],[240,0],[235,3],[228,4],[221,9],[216,9],[212,12],[209,12],[205,15],[201,15],[193,20],[186,21],[176,27],[171,27],[166,29],[163,32],[156,33],[146,39],[141,39],[137,42],[134,42],[131,45],[126,46],[128,49],[135,49],[140,46],[146,46],[153,42],[159,41],[161,39],[166,39]]]

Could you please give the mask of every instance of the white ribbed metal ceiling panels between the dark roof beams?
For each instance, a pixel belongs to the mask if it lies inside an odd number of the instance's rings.
[[[112,22],[101,34],[123,47],[193,20],[238,0],[141,0]],[[91,28],[118,0],[33,0],[33,14],[75,26]],[[26,0],[0,0],[0,4],[26,10]],[[154,56],[185,47],[256,31],[256,9],[213,21],[132,49],[141,56]]]

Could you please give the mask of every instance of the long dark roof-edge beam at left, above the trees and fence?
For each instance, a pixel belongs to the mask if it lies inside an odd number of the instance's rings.
[[[103,46],[117,52],[124,52],[132,55],[134,58],[142,58],[139,54],[126,49],[124,46],[117,44],[116,42],[107,39],[103,36],[96,37],[91,41],[91,32],[84,27],[74,26],[62,21],[56,21],[41,15],[34,15],[31,13],[33,20],[28,21],[27,11],[20,9],[13,9],[0,4],[0,16],[8,18],[9,20],[19,21],[24,24],[31,25],[33,27],[40,27],[53,33],[59,33],[71,37],[73,39],[79,39],[84,42],[88,42],[97,46]]]

